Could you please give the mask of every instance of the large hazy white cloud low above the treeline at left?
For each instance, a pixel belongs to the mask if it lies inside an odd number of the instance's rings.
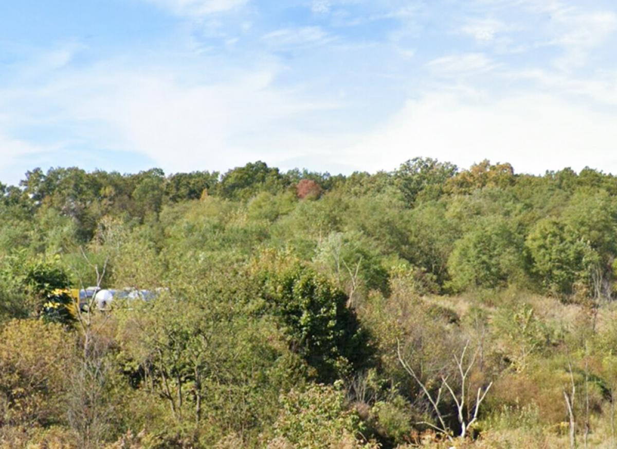
[[[338,105],[275,88],[278,65],[228,72],[218,80],[207,80],[207,73],[200,79],[193,70],[108,61],[64,70],[39,86],[0,89],[3,162],[56,151],[70,138],[73,146],[138,152],[167,171],[225,170],[255,159],[276,164],[325,143],[303,132],[299,117]],[[2,138],[3,129],[24,127],[67,129],[70,135],[41,146]]]

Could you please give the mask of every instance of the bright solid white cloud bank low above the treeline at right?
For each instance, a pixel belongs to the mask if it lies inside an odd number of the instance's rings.
[[[521,92],[500,100],[429,93],[405,106],[345,154],[357,164],[395,167],[413,156],[469,167],[485,157],[518,172],[571,166],[617,172],[617,114],[556,96]]]

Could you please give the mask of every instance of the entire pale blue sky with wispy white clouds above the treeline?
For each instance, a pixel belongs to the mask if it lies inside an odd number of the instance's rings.
[[[617,4],[0,2],[0,181],[429,156],[617,173]]]

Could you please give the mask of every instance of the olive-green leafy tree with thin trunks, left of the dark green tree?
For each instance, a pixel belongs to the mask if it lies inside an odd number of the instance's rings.
[[[302,363],[271,316],[256,313],[260,301],[252,303],[240,279],[209,271],[196,280],[188,271],[154,301],[118,312],[127,371],[168,410],[140,425],[158,428],[170,445],[212,447],[228,434],[255,440],[280,392],[301,384]]]

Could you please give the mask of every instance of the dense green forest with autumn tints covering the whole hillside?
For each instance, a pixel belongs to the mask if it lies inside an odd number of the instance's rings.
[[[592,169],[34,169],[0,183],[0,447],[614,448],[616,256]]]

